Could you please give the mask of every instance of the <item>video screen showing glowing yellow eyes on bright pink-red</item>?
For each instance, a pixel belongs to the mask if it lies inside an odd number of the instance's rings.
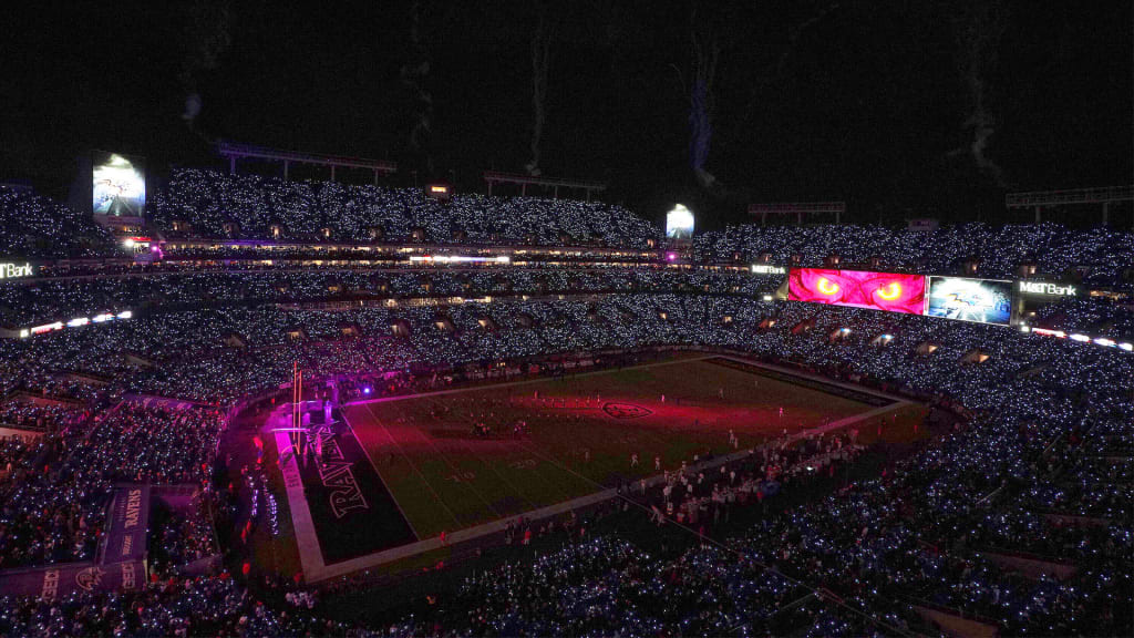
[[[922,314],[925,310],[925,277],[869,270],[793,268],[788,276],[787,299]]]

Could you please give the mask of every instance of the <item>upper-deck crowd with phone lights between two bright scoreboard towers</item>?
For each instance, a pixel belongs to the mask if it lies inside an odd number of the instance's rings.
[[[154,196],[167,228],[189,225],[193,236],[225,237],[236,224],[244,238],[459,244],[601,244],[646,247],[660,234],[625,208],[601,202],[458,194],[448,203],[418,188],[289,182],[211,170],[175,170]],[[324,229],[329,233],[324,233]]]

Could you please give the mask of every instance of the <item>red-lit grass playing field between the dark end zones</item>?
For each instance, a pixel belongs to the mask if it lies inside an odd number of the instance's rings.
[[[744,448],[785,428],[873,409],[706,361],[676,361],[371,402],[344,413],[414,531],[428,538],[654,475],[654,456],[674,470],[694,454],[729,452],[729,429]],[[519,439],[510,437],[516,420],[530,430]],[[475,438],[475,422],[501,434]]]

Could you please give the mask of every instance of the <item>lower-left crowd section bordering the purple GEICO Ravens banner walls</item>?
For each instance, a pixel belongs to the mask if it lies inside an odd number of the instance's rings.
[[[91,559],[117,481],[204,485],[215,410],[120,403],[5,446],[0,568]]]

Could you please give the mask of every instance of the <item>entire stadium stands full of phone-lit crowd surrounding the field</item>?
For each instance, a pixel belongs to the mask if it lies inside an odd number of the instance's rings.
[[[1032,327],[1128,343],[1128,301],[1111,300],[1129,294],[1128,233],[741,226],[669,262],[660,229],[601,203],[446,205],[185,169],[152,208],[163,254],[142,262],[88,217],[0,187],[6,259],[35,266],[0,286],[0,633],[1134,630],[1134,354],[781,301],[782,278],[748,268],[837,255],[890,272],[1073,271],[1115,295],[1044,305]],[[408,259],[426,253],[485,261]],[[288,562],[289,459],[256,423],[290,401],[295,366],[305,400],[337,398],[333,421],[350,401],[500,370],[534,379],[691,351],[925,403],[936,434],[895,457],[880,435],[841,429],[770,437],[701,476],[701,459],[667,460],[649,484],[600,486],[611,501],[509,518],[422,577],[313,584]],[[329,426],[321,412],[312,421]],[[400,613],[347,610],[417,591]]]

